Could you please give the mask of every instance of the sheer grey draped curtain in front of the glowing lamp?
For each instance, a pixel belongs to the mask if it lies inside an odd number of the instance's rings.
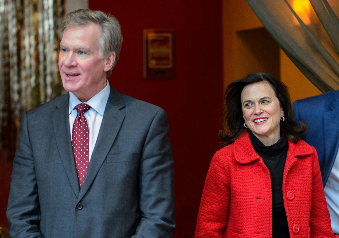
[[[297,0],[246,1],[279,47],[320,91],[339,89],[338,0],[333,4],[303,1],[306,6],[297,6]]]

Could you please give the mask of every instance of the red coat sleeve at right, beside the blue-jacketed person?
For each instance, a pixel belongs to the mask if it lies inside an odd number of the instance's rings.
[[[314,149],[314,148],[313,148]],[[330,213],[328,212],[324,189],[322,186],[320,167],[317,152],[313,153],[313,180],[312,180],[312,201],[310,215],[311,238],[334,237],[331,228]]]

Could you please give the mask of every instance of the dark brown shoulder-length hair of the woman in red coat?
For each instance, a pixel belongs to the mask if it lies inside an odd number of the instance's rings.
[[[223,130],[219,131],[219,137],[224,145],[233,143],[245,130],[245,120],[242,117],[241,92],[246,85],[256,82],[268,82],[279,99],[280,106],[284,110],[285,121],[280,121],[280,128],[287,138],[296,143],[301,135],[307,131],[304,122],[300,127],[294,121],[290,94],[287,86],[269,73],[253,73],[245,78],[232,82],[225,92],[225,111],[223,117]]]

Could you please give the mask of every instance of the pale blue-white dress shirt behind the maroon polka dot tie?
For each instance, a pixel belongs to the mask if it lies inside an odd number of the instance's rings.
[[[106,103],[108,100],[109,92],[111,89],[109,88],[108,81],[106,79],[106,86],[99,93],[94,95],[87,102],[81,102],[73,93],[69,92],[69,109],[68,109],[68,118],[69,118],[69,130],[71,132],[71,140],[72,140],[72,129],[75,118],[77,117],[77,110],[75,106],[79,103],[86,103],[91,106],[87,112],[84,113],[84,116],[87,120],[88,124],[88,133],[89,133],[89,149],[88,156],[89,161],[91,161],[93,149],[95,143],[97,142],[102,118],[104,116]]]

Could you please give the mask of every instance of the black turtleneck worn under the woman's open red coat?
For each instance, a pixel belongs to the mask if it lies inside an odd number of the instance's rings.
[[[249,134],[254,150],[262,158],[271,174],[273,238],[290,238],[282,194],[282,179],[287,156],[286,136],[282,134],[277,143],[265,146],[250,130]]]

